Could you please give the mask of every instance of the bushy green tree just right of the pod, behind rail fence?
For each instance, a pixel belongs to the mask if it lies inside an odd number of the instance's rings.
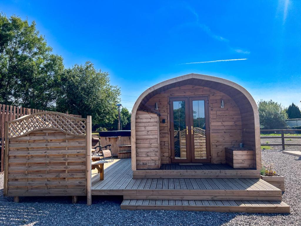
[[[280,129],[285,127],[287,113],[281,104],[260,100],[258,103],[260,125],[266,129]]]

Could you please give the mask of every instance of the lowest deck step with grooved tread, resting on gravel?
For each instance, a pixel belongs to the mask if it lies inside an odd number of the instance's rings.
[[[246,200],[166,200],[127,199],[121,209],[190,210],[214,212],[289,213],[290,206],[281,201]]]

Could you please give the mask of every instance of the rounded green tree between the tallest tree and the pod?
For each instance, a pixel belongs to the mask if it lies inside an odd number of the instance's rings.
[[[109,74],[96,70],[91,62],[75,64],[61,76],[61,94],[57,111],[92,116],[93,124],[104,127],[116,119],[116,104],[120,102],[120,89],[110,84]]]

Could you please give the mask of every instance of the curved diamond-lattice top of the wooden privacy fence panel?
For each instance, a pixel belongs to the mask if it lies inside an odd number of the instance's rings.
[[[85,136],[86,119],[55,111],[37,112],[8,122],[8,137],[20,137],[36,130],[61,130],[74,136]]]

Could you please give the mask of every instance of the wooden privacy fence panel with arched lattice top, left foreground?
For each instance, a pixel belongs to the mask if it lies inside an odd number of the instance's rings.
[[[7,121],[4,194],[14,196],[16,202],[19,196],[73,196],[76,200],[87,195],[87,180],[91,180],[91,175],[87,178],[91,168],[88,118],[44,111]]]

